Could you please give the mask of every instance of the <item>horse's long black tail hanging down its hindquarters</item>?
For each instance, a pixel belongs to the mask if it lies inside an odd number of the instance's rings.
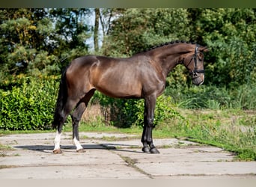
[[[61,120],[63,120],[63,107],[67,101],[67,82],[66,82],[66,72],[67,68],[61,75],[61,82],[58,90],[58,99],[55,105],[55,113],[52,122],[52,128],[56,129],[61,125]]]

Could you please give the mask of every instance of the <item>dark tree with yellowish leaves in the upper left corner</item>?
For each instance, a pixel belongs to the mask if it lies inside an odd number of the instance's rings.
[[[37,55],[50,49],[49,37],[46,36],[53,29],[47,14],[46,9],[0,10],[1,76],[28,73],[37,67],[32,64]],[[52,64],[53,61],[47,63]]]

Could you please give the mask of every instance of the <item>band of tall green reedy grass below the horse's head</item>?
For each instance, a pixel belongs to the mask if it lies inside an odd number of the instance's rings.
[[[224,87],[192,86],[190,88],[167,88],[165,94],[173,98],[180,108],[240,108],[256,109],[255,85],[240,85],[235,89]]]

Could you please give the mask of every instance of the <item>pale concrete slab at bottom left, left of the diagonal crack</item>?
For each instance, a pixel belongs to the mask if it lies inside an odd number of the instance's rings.
[[[149,179],[122,165],[61,165],[0,170],[0,179]]]

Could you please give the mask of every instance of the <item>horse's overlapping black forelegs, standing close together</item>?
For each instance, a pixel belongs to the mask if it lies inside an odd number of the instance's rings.
[[[144,153],[159,153],[153,145],[152,130],[153,130],[153,116],[156,106],[156,96],[145,98],[144,102],[144,129],[141,137],[143,144],[142,151]]]

